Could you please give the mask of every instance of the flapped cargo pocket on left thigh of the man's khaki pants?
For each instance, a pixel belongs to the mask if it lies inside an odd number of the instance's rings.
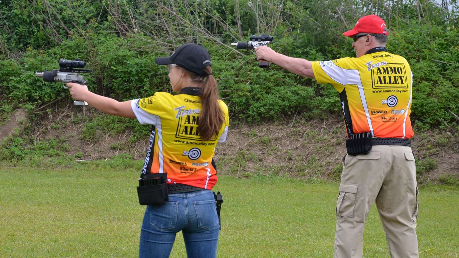
[[[337,220],[354,220],[355,196],[357,185],[341,184],[336,199],[336,219]]]

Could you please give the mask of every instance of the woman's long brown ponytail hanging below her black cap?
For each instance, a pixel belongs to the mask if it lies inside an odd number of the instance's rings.
[[[180,67],[183,72],[186,72],[193,82],[201,83],[201,114],[199,115],[198,132],[204,141],[211,140],[218,134],[222,124],[225,121],[223,110],[218,104],[217,81],[212,74],[212,68],[206,66],[204,71],[210,74],[207,77],[202,77],[194,72],[190,72]]]

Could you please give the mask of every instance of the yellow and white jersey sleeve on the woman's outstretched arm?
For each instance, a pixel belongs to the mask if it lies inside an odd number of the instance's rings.
[[[153,96],[143,99],[131,100],[131,108],[140,124],[156,125],[158,97]]]

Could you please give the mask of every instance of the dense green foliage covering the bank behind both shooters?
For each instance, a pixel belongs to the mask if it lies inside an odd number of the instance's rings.
[[[326,119],[341,109],[330,85],[275,65],[260,69],[255,55],[230,43],[269,33],[274,35],[271,47],[285,55],[308,60],[355,56],[352,39],[341,33],[361,16],[377,14],[390,30],[389,51],[404,56],[414,71],[411,119],[416,130],[448,128],[457,138],[458,5],[458,0],[2,0],[0,124],[17,108],[28,109],[39,121],[43,112],[59,112],[71,103],[60,83],[34,76],[57,68],[59,59],[85,60],[93,70],[85,75],[90,90],[118,100],[170,91],[166,69],[154,60],[190,42],[209,50],[232,123]],[[122,118],[74,119],[85,124],[83,140],[96,140],[97,131],[141,132],[131,142],[148,133],[147,127]],[[49,150],[43,145],[51,146],[52,156],[69,148],[59,141],[11,137],[0,146],[0,158],[25,159],[28,151]]]

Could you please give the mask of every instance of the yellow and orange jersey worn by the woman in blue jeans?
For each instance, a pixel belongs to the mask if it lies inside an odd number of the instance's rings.
[[[168,184],[204,189],[215,185],[217,170],[213,155],[217,143],[226,140],[228,107],[218,100],[225,122],[218,135],[203,141],[198,132],[202,108],[199,91],[199,88],[186,87],[177,95],[157,92],[131,101],[137,120],[153,126],[142,174],[167,173]]]

